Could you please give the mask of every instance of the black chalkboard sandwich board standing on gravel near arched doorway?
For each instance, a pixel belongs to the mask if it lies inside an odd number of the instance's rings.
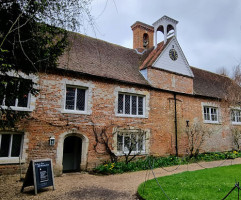
[[[28,171],[25,176],[21,192],[27,186],[34,186],[35,194],[41,188],[53,186],[54,175],[51,159],[31,160],[28,166]]]

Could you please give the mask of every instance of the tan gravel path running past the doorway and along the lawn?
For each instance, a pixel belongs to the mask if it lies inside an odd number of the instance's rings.
[[[194,171],[205,168],[217,167],[219,165],[241,164],[241,158],[226,161],[203,162],[199,164],[181,165],[158,168],[154,170],[157,177],[166,176],[183,171]],[[169,171],[169,172],[168,172]],[[55,190],[52,187],[44,188],[34,195],[33,187],[24,189],[20,193],[22,182],[18,175],[0,176],[0,199],[98,199],[98,200],[125,200],[138,199],[136,196],[139,184],[153,178],[150,171],[139,171],[125,174],[96,176],[88,173],[69,173],[55,178]]]

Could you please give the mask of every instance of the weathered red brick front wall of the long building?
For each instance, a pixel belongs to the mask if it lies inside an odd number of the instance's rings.
[[[158,71],[159,72],[159,71]],[[165,74],[160,71],[160,73]],[[185,81],[178,83],[183,92],[191,93],[188,87],[192,85],[192,80],[186,77],[177,77],[177,80]],[[92,113],[91,114],[64,114],[61,112],[62,101],[64,100],[63,88],[65,82],[81,81],[83,83],[91,83],[92,85]],[[169,80],[170,81],[170,80]],[[181,80],[180,80],[181,81]],[[168,82],[168,80],[167,80]],[[160,82],[161,84],[161,82]],[[163,83],[164,84],[164,83]],[[119,117],[115,115],[116,104],[116,88],[132,88],[133,90],[143,92],[150,96],[148,118],[136,117]],[[178,91],[181,89],[178,89]],[[177,124],[178,124],[178,150],[179,154],[186,154],[187,139],[185,135],[186,120],[190,124],[194,120],[203,121],[202,103],[212,102],[225,107],[220,102],[194,98],[192,96],[177,95]],[[42,74],[40,77],[40,94],[37,97],[36,109],[32,112],[30,120],[23,120],[19,123],[18,130],[28,132],[28,149],[25,167],[31,159],[51,158],[53,164],[56,165],[58,156],[57,147],[59,137],[65,132],[76,130],[78,133],[84,134],[89,139],[87,168],[92,168],[108,159],[108,155],[97,154],[94,150],[95,138],[93,135],[93,127],[91,121],[99,126],[109,125],[116,126],[132,126],[141,129],[150,130],[150,154],[157,156],[165,156],[175,154],[175,126],[174,126],[174,96],[172,93],[161,92],[157,90],[147,90],[141,87],[133,87],[130,85],[103,82],[98,80],[90,80],[85,77],[73,77],[54,74]],[[222,115],[227,113],[227,109],[222,108]],[[226,116],[227,117],[227,116]],[[203,146],[203,151],[224,151],[232,149],[232,140],[229,131],[230,120],[224,120],[221,124],[210,124],[215,128],[212,137],[208,138]],[[228,117],[227,117],[228,118]],[[108,130],[108,132],[111,132]],[[49,146],[49,138],[55,136],[55,146]],[[0,165],[0,173],[4,173],[5,169],[16,168],[17,165]]]

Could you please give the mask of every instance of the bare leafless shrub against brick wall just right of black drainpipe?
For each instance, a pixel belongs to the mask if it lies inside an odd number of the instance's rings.
[[[212,134],[212,130],[200,122],[194,122],[191,126],[186,127],[185,132],[188,138],[188,151],[190,157],[199,154],[203,143],[207,137],[210,137]]]

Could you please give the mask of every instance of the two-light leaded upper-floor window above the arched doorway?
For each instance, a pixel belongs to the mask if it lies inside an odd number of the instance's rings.
[[[65,109],[73,111],[86,110],[86,89],[66,87]]]

